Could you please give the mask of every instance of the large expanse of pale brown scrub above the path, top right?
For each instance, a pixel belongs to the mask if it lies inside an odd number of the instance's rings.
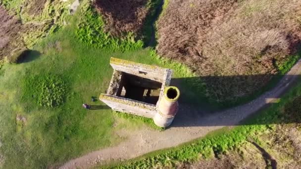
[[[189,65],[211,98],[234,100],[266,85],[296,53],[300,23],[301,0],[170,0],[156,49]]]

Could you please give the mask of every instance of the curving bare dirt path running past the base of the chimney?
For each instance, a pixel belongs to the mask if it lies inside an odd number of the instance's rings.
[[[286,91],[301,74],[301,60],[288,72],[272,90],[262,94],[248,104],[221,112],[203,112],[188,105],[181,105],[172,126],[165,131],[142,129],[129,133],[128,139],[117,146],[91,152],[73,159],[61,169],[89,168],[97,163],[110,160],[127,160],[151,151],[177,146],[181,143],[200,138],[208,132],[238,125],[251,114],[272,104]]]

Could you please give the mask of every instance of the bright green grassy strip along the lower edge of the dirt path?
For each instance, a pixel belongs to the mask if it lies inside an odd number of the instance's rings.
[[[267,140],[260,140],[258,137],[261,133],[275,132],[275,124],[291,125],[296,123],[296,118],[292,119],[292,117],[298,117],[298,121],[300,122],[301,115],[296,114],[300,112],[300,106],[297,107],[293,105],[294,99],[300,96],[301,79],[299,79],[299,83],[294,86],[279,103],[273,104],[271,107],[253,115],[250,119],[245,121],[242,126],[233,129],[224,127],[206,135],[204,138],[184,143],[175,148],[159,150],[127,162],[116,162],[117,164],[112,163],[111,166],[102,166],[100,168],[173,168],[181,163],[192,163],[201,158],[212,158],[214,157],[213,152],[217,154],[226,153],[240,147],[248,138],[252,138],[255,142],[263,145],[268,144],[263,143],[263,141]],[[285,110],[288,107],[291,107],[291,112]]]

